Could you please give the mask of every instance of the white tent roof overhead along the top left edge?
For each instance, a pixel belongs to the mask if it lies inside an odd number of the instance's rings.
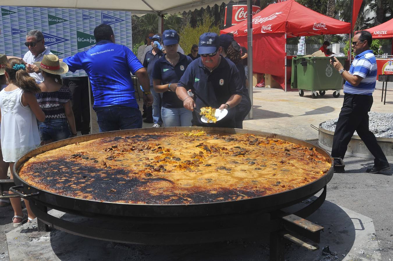
[[[75,8],[75,9],[101,9],[131,11],[132,14],[174,14],[194,11],[205,8],[208,5],[228,3],[229,0],[8,0],[7,5],[51,7],[51,8]],[[236,0],[234,2],[237,2]]]

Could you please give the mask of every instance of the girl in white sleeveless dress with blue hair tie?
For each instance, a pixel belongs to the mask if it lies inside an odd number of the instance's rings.
[[[15,161],[40,145],[37,119],[44,121],[45,114],[35,98],[35,93],[39,92],[40,88],[26,72],[21,60],[9,59],[5,74],[9,85],[0,91],[1,148],[3,160],[9,162],[13,179]],[[27,219],[35,218],[30,210],[29,201],[25,199],[24,202],[28,216],[22,212],[20,199],[11,198],[15,215],[12,219],[14,227],[19,227]]]

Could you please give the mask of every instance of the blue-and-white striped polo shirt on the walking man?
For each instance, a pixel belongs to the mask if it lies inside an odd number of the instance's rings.
[[[356,55],[348,72],[363,79],[358,86],[353,86],[346,81],[344,93],[373,95],[377,74],[376,59],[373,51],[367,50]]]

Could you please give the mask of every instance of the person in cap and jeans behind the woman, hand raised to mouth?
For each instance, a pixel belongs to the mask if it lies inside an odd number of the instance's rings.
[[[155,92],[153,88],[153,77],[152,77],[152,72],[153,72],[153,67],[154,63],[158,61],[162,56],[163,56],[163,51],[165,49],[161,46],[162,40],[161,36],[158,34],[155,34],[153,38],[151,39],[151,44],[153,46],[153,49],[148,51],[145,54],[145,59],[143,60],[143,67],[147,68],[147,74],[149,74],[149,80],[150,80],[150,91],[153,95],[154,101],[152,104],[153,107],[153,126],[154,128],[161,127],[162,125],[162,119],[161,119],[161,98],[162,94]],[[143,120],[144,122],[151,123],[148,118]]]

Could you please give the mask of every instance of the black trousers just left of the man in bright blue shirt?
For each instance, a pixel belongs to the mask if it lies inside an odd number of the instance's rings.
[[[89,104],[89,85],[87,77],[78,77],[64,79],[64,85],[67,86],[71,93],[72,111],[75,117],[76,130],[82,134],[90,132],[90,104]]]

